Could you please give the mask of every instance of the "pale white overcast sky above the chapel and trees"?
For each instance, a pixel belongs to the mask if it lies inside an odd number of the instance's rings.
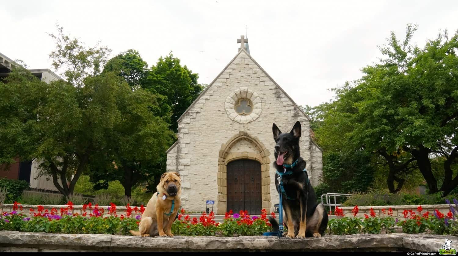
[[[333,98],[330,88],[361,77],[390,32],[416,23],[420,47],[458,29],[458,1],[15,0],[0,4],[0,52],[52,70],[55,24],[113,55],[133,48],[149,65],[174,56],[208,84],[237,53],[248,27],[251,56],[299,105]],[[55,70],[53,70],[55,71]]]

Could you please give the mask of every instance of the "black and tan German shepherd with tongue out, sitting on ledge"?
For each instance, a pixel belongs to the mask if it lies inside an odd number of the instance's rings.
[[[290,133],[282,133],[275,123],[272,126],[275,145],[275,159],[273,166],[279,173],[292,171],[290,175],[283,175],[282,181],[285,193],[282,196],[282,206],[285,212],[284,223],[288,239],[305,237],[321,237],[327,228],[327,213],[322,203],[316,202],[316,195],[305,170],[305,160],[300,157],[299,138],[301,127],[299,121],[294,124]],[[285,165],[292,167],[284,167]],[[275,186],[278,191],[277,174]],[[278,231],[278,222],[270,218],[273,231]]]

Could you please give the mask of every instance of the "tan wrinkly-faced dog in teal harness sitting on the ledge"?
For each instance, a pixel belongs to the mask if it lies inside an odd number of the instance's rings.
[[[181,180],[178,172],[166,172],[159,181],[158,192],[149,200],[142,220],[138,224],[139,231],[130,230],[132,235],[173,236],[171,228],[181,205]],[[172,210],[172,202],[173,210]]]

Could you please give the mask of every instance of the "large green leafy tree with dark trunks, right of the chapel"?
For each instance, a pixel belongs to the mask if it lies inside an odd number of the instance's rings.
[[[399,191],[405,176],[418,168],[429,192],[447,195],[458,185],[458,176],[453,177],[458,151],[458,34],[440,34],[418,48],[410,44],[416,28],[408,25],[402,42],[392,33],[381,48],[386,59],[363,68],[363,77],[354,85],[336,90],[337,100],[317,137],[335,149],[346,145],[378,154],[389,168],[391,192]],[[431,168],[431,158],[437,156],[446,159],[441,188]]]

